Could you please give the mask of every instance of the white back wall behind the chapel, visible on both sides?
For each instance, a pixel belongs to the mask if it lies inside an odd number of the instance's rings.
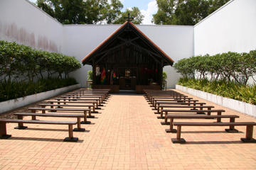
[[[82,60],[97,45],[117,30],[121,25],[70,25],[63,26],[63,53],[74,55]],[[174,61],[193,55],[193,26],[143,26],[137,25],[142,32],[158,45]],[[86,85],[87,71],[90,66],[82,67],[74,76]],[[174,88],[179,74],[173,67],[164,67],[168,74],[167,86]]]

